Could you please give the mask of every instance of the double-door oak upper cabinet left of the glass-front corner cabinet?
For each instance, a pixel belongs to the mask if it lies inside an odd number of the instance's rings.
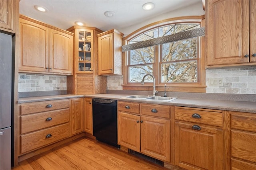
[[[73,36],[20,15],[19,72],[72,75]]]

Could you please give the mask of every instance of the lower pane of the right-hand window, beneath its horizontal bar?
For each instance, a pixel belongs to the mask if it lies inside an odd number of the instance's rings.
[[[161,64],[161,82],[197,82],[197,61]]]

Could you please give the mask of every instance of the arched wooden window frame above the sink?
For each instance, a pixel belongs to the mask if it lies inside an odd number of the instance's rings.
[[[203,16],[184,16],[184,17],[176,17],[176,18],[170,18],[168,20],[162,20],[155,23],[151,23],[149,25],[146,25],[134,32],[132,32],[130,35],[123,38],[124,45],[128,44],[128,41],[134,39],[134,37],[137,37],[141,33],[150,31],[152,29],[155,29],[157,27],[163,27],[165,25],[175,24],[175,23],[199,23],[200,27],[204,27],[204,15]],[[164,83],[161,82],[161,64],[163,62],[161,61],[161,46],[162,45],[155,45],[155,58],[153,68],[154,70],[154,77],[156,78],[156,90],[158,91],[164,91],[164,85],[166,84],[166,91],[167,92],[206,92],[206,82],[205,82],[205,59],[204,59],[204,37],[198,37],[198,43],[200,42],[200,46],[198,45],[198,51],[196,58],[197,60],[197,71],[198,71],[198,82],[182,82],[182,83]],[[144,85],[140,84],[140,82],[128,82],[129,81],[129,55],[130,51],[126,51],[124,54],[124,61],[123,61],[123,69],[124,69],[124,83],[122,84],[123,90],[152,90],[152,82],[145,82]],[[194,59],[193,59],[194,60]],[[170,62],[169,62],[170,63]]]

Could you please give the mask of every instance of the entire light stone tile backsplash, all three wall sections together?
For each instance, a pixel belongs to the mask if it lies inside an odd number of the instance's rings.
[[[209,78],[222,78],[223,86],[209,86]],[[66,82],[62,75],[19,73],[18,92],[67,90]],[[107,90],[123,90],[122,83],[123,76],[107,76]],[[256,94],[256,66],[208,69],[206,86],[206,93]]]

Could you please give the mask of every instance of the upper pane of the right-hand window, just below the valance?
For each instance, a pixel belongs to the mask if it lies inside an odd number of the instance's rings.
[[[197,38],[162,45],[162,62],[197,58]]]

